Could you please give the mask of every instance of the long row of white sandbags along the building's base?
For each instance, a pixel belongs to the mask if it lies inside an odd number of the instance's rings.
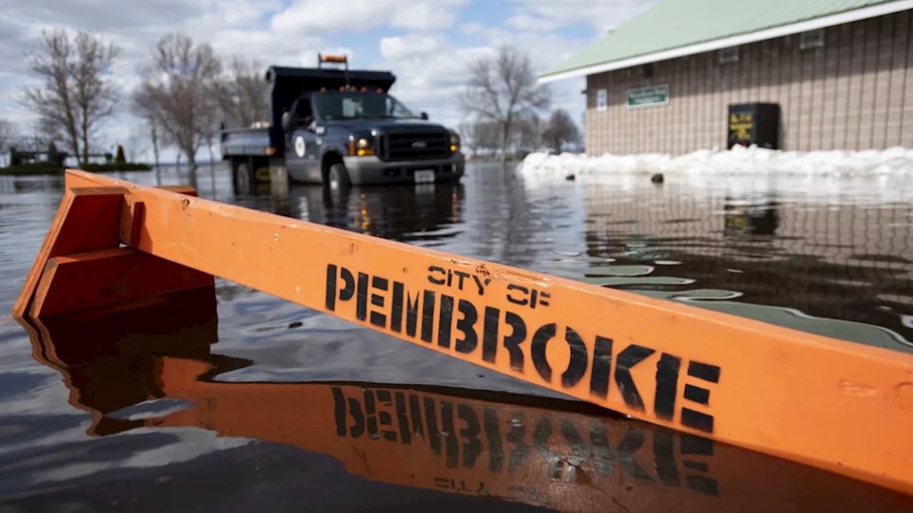
[[[519,165],[524,176],[565,178],[569,174],[605,173],[719,173],[725,175],[793,175],[793,176],[894,176],[913,178],[913,149],[900,146],[887,150],[848,152],[781,152],[751,146],[732,150],[700,150],[678,157],[660,153],[613,155],[599,157],[561,153],[550,155],[533,152]]]

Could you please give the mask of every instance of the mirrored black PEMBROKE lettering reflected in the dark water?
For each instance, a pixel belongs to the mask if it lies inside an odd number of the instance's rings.
[[[440,456],[446,468],[484,469],[476,481],[429,475],[435,487],[490,495],[485,474],[519,474],[524,479],[537,476],[535,467],[525,467],[535,452],[548,465],[538,475],[544,470],[542,479],[549,481],[574,484],[579,469],[593,468],[601,477],[621,472],[640,483],[684,486],[719,497],[718,483],[709,471],[714,445],[707,438],[631,424],[612,429],[596,419],[587,419],[583,425],[563,414],[528,418],[528,413],[537,412],[518,407],[508,414],[501,408],[402,390],[363,388],[361,397],[347,395],[353,390],[331,387],[339,436],[369,438],[379,444],[422,445]],[[556,451],[567,446],[570,455]],[[648,457],[650,452],[652,458]],[[521,468],[525,469],[519,472]],[[548,500],[535,488],[511,487],[509,491],[516,492],[515,498],[530,502]]]

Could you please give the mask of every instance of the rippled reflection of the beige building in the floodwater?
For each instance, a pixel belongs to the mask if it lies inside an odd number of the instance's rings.
[[[599,285],[913,352],[913,205],[670,187],[590,184],[586,256],[563,266],[586,265],[582,279]],[[645,271],[611,278],[633,264]]]

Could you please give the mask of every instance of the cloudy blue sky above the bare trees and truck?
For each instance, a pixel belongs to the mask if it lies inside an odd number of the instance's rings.
[[[352,68],[391,69],[393,93],[450,126],[462,119],[456,94],[469,62],[511,43],[544,70],[571,56],[653,0],[23,0],[0,7],[0,118],[33,131],[16,95],[34,78],[24,52],[42,28],[88,30],[123,48],[114,69],[124,96],[155,41],[172,31],[222,55],[267,64],[314,66],[318,52],[344,52]],[[7,4],[9,5],[9,4]],[[581,119],[583,79],[553,83],[554,104]],[[144,142],[123,102],[99,145]],[[128,153],[131,153],[128,150]],[[164,158],[173,159],[174,152]]]

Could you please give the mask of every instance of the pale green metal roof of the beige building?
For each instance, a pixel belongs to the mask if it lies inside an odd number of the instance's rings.
[[[661,0],[577,55],[541,74],[540,78],[891,1]]]

